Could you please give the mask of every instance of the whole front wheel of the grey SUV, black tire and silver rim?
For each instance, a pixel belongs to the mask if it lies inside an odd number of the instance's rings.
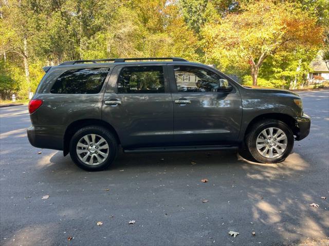
[[[261,163],[281,162],[294,147],[293,131],[284,122],[275,119],[255,123],[245,140],[249,153]]]

